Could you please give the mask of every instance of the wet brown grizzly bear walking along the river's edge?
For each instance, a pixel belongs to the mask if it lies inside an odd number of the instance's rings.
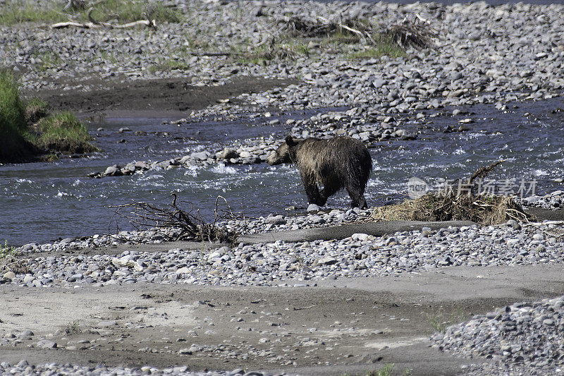
[[[310,204],[323,206],[329,196],[344,188],[353,200],[352,207],[367,207],[364,189],[372,170],[372,158],[359,140],[346,136],[295,140],[288,136],[266,162],[297,165]],[[318,184],[323,186],[321,191]]]

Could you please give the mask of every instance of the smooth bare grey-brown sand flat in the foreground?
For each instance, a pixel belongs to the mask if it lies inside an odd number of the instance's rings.
[[[286,363],[283,370],[307,375],[394,363],[412,375],[454,375],[477,361],[428,348],[429,334],[497,306],[561,295],[562,272],[554,265],[452,267],[302,288],[130,284],[23,293],[2,286],[3,329],[34,333],[3,346],[3,360],[190,370]],[[56,348],[37,348],[41,339]]]

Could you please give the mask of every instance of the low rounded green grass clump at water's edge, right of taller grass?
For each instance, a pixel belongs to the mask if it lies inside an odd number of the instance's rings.
[[[56,150],[64,154],[83,154],[97,150],[90,144],[92,136],[71,112],[47,116],[32,126],[35,135],[32,142],[42,149]]]

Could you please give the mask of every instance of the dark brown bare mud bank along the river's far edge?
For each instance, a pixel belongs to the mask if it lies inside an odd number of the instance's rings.
[[[263,92],[272,87],[290,85],[294,81],[237,76],[226,85],[218,86],[195,86],[184,78],[125,82],[89,78],[81,82],[93,89],[41,90],[25,92],[25,95],[41,97],[55,110],[75,111],[82,116],[173,118],[186,117],[191,111],[215,104],[219,99]],[[66,85],[69,83],[61,83],[61,87]]]

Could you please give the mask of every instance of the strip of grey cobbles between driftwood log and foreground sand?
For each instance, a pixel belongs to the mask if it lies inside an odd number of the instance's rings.
[[[189,283],[197,285],[277,286],[286,279],[298,279],[305,286],[319,279],[375,277],[412,273],[435,267],[516,266],[563,262],[564,231],[561,222],[521,226],[463,226],[432,231],[401,232],[383,238],[354,234],[341,241],[304,243],[258,243],[214,250],[184,250],[143,253],[125,251],[120,255],[58,255],[75,242],[58,245],[26,245],[47,252],[42,257],[27,255],[20,265],[25,272],[6,272],[3,283],[18,286],[73,284]],[[93,238],[90,245],[104,245]],[[149,235],[150,239],[150,235]],[[86,242],[88,243],[88,242]],[[30,258],[33,257],[33,258]]]

